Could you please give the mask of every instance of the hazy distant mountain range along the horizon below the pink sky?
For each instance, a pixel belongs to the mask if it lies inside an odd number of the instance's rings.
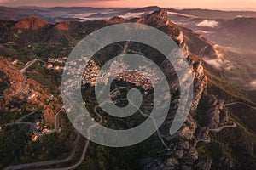
[[[65,20],[97,20],[108,19],[119,15],[148,13],[158,10],[160,7],[149,6],[145,8],[91,8],[91,7],[20,7],[10,8],[0,6],[0,20],[20,20],[30,16],[38,16],[42,20],[54,24]],[[198,18],[207,19],[234,19],[237,16],[256,17],[254,11],[222,11],[210,9],[166,9],[169,12],[175,12],[184,15],[194,15]]]

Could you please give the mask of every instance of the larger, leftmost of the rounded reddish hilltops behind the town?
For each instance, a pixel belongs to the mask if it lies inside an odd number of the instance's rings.
[[[31,29],[38,30],[39,28],[43,28],[44,26],[49,25],[48,22],[44,20],[40,20],[37,17],[29,17],[26,19],[20,19],[13,26],[14,29]]]

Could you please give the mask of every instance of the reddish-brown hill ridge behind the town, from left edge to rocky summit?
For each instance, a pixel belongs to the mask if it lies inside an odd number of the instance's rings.
[[[164,16],[163,18],[159,18]],[[163,23],[165,20],[168,21],[166,11],[162,10],[154,12],[153,14],[148,14],[145,18],[138,17],[131,20],[125,20],[121,17],[113,17],[112,19],[106,20],[95,20],[95,21],[63,21],[56,24],[50,24],[47,21],[40,20],[37,17],[29,17],[26,19],[20,19],[17,21],[3,21],[0,25],[0,42],[70,42],[73,38],[79,39],[81,36],[85,36],[86,30],[94,30],[92,23],[99,26],[108,26],[113,23],[120,22],[134,22],[139,21],[145,24],[154,24],[154,26],[162,26],[162,29],[167,28],[166,24],[172,25],[172,23]],[[161,20],[163,22],[158,22]],[[89,27],[88,27],[89,26]],[[92,26],[92,27],[91,27]],[[174,25],[173,25],[174,26]],[[91,28],[90,28],[91,27]],[[32,31],[30,31],[32,30]],[[176,31],[170,31],[172,33]],[[15,34],[15,37],[14,37]],[[73,37],[73,38],[71,38]]]

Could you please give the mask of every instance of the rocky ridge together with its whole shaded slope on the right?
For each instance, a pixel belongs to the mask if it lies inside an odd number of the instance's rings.
[[[176,114],[178,98],[172,100],[172,109],[160,128],[169,149],[162,151],[159,158],[147,161],[143,169],[254,169],[255,152],[250,150],[256,147],[255,132],[253,127],[247,128],[247,123],[241,122],[241,119],[250,122],[248,117],[253,115],[244,116],[252,110],[247,108],[243,111],[241,105],[237,105],[237,111],[231,112],[225,105],[234,100],[247,100],[230,82],[218,77],[218,71],[204,62],[203,59],[218,58],[212,43],[192,32],[189,39],[187,29],[163,20],[166,17],[152,18],[160,19],[158,28],[171,36],[183,50],[193,72],[194,99],[183,127],[170,136],[169,129]],[[173,71],[171,67],[165,70]],[[172,82],[170,88],[178,89],[178,82]]]

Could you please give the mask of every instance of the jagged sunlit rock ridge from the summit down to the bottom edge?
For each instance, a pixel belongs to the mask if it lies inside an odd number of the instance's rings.
[[[158,14],[164,16],[158,16]],[[160,158],[151,159],[150,162],[145,163],[143,169],[193,169],[193,167],[210,169],[212,167],[212,160],[210,158],[199,161],[197,144],[210,143],[211,139],[208,134],[211,129],[218,129],[218,127],[222,127],[229,122],[229,116],[223,107],[224,100],[218,100],[214,94],[207,94],[208,78],[205,73],[203,61],[189,51],[188,45],[184,41],[183,30],[178,26],[170,24],[171,22],[165,17],[166,13],[163,9],[160,9],[160,11],[153,15],[155,16],[148,17],[149,22],[147,17],[143,22],[153,24],[153,20],[157,20],[157,26],[165,26],[165,31],[167,30],[166,34],[172,35],[174,41],[179,43],[193,72],[194,99],[189,116],[183,127],[171,136],[169,129],[177,111],[178,98],[172,100],[172,109],[166,117],[167,121],[160,128],[160,132],[163,134],[164,139],[166,139],[169,149],[164,150],[160,154]],[[166,65],[166,61],[163,61],[161,65]],[[171,74],[175,74],[175,71],[170,66],[164,68],[164,71],[168,71],[168,74],[170,72]],[[170,88],[178,89],[178,82],[172,82]],[[210,97],[204,97],[202,99],[202,96],[205,95],[210,95]],[[199,115],[198,113],[200,111],[198,108],[202,106],[205,106],[205,114]],[[205,120],[206,123],[204,126],[198,123],[200,121],[199,119]],[[218,130],[215,132],[218,132]],[[224,160],[230,162],[230,167],[232,167],[232,161],[226,157],[224,157]]]

